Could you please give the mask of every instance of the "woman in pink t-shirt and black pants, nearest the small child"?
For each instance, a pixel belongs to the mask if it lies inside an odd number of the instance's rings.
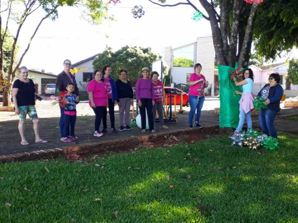
[[[93,136],[95,137],[103,135],[103,133],[99,130],[99,126],[108,106],[108,92],[101,78],[101,72],[99,70],[95,70],[94,80],[91,80],[87,85],[89,105],[95,113],[95,132],[93,133]]]

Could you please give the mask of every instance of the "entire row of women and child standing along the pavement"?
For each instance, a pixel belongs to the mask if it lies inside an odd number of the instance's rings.
[[[75,77],[70,73],[72,63],[69,59],[63,62],[64,70],[57,76],[56,88],[60,92],[64,92],[64,100],[66,104],[60,104],[60,135],[61,141],[72,142],[77,140],[74,134],[74,125],[76,119],[76,104],[79,103],[79,90],[75,81]],[[189,77],[189,127],[193,128],[193,117],[196,113],[195,126],[202,127],[200,124],[200,114],[204,104],[204,89],[208,87],[208,81],[201,74],[202,65],[195,64],[194,73]],[[21,145],[28,145],[24,135],[24,121],[28,114],[33,122],[36,143],[46,143],[39,136],[39,119],[35,109],[35,85],[28,78],[28,69],[25,66],[19,67],[19,77],[14,81],[12,87],[12,99],[15,106],[15,113],[19,114],[18,130],[21,136]],[[138,79],[136,84],[136,99],[141,114],[141,131],[146,132],[146,114],[148,116],[149,131],[155,133],[155,114],[159,116],[160,128],[168,128],[163,123],[163,102],[165,100],[162,83],[158,80],[156,71],[149,72],[148,67],[143,67],[142,77]],[[116,82],[110,76],[112,69],[110,65],[106,65],[102,70],[94,71],[94,79],[87,84],[87,92],[89,97],[89,106],[95,113],[95,129],[93,136],[100,137],[107,130],[107,108],[109,110],[111,132],[117,133],[115,128],[114,106],[119,106],[119,130],[131,130],[129,126],[130,107],[134,102],[134,92],[131,82],[127,79],[127,71],[121,69],[119,71],[119,80]],[[259,97],[265,99],[267,109],[261,110],[259,114],[259,122],[264,134],[277,138],[276,129],[274,127],[274,118],[280,111],[280,99],[283,95],[283,88],[279,85],[280,76],[273,73],[269,76],[269,84],[266,84],[258,93]],[[233,79],[235,85],[242,86],[243,92],[235,92],[242,94],[240,103],[239,124],[235,133],[242,130],[244,120],[247,121],[248,130],[252,128],[251,110],[253,109],[253,72],[251,69],[244,71],[244,80],[238,82]],[[161,118],[160,118],[161,117]],[[99,129],[101,121],[103,123],[102,130]]]

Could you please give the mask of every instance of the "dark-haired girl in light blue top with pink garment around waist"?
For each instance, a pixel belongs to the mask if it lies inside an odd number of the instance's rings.
[[[247,131],[252,128],[252,120],[251,120],[251,110],[254,109],[253,101],[254,96],[252,94],[253,91],[253,72],[250,68],[244,70],[244,80],[239,81],[234,77],[233,81],[236,86],[242,86],[243,92],[235,91],[235,94],[241,95],[241,99],[239,101],[239,124],[236,128],[234,136],[236,133],[240,133],[246,119],[247,122]]]

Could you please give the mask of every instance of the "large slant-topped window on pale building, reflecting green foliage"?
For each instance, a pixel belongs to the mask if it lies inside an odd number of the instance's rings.
[[[173,51],[173,66],[175,67],[193,67],[194,66],[195,45],[189,45]]]

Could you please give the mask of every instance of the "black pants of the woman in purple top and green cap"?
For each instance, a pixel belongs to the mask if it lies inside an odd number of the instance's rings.
[[[142,129],[146,129],[146,110],[148,115],[148,124],[150,131],[154,128],[153,125],[153,113],[152,113],[152,99],[148,98],[141,98],[142,107],[140,108],[140,114],[141,114],[141,123],[142,123]]]

